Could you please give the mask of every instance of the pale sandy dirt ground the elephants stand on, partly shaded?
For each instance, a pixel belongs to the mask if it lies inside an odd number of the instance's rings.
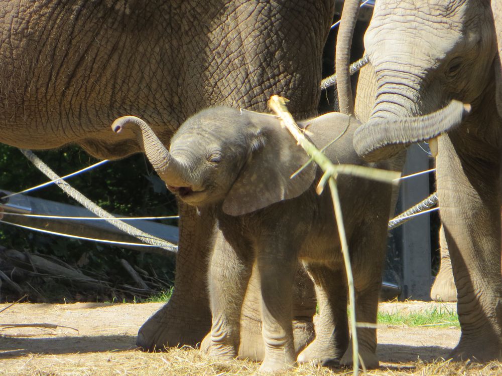
[[[430,309],[438,303],[382,303],[382,311]],[[0,310],[7,304],[0,304]],[[235,368],[210,362],[197,370],[197,350],[144,353],[136,349],[138,328],[162,303],[16,304],[0,313],[0,374],[230,374]],[[455,310],[454,304],[448,304]],[[9,324],[56,324],[11,327]],[[459,339],[455,327],[380,325],[378,353],[383,367],[406,370],[418,359],[447,357]],[[177,351],[177,352],[176,352]],[[188,357],[188,364],[187,358]],[[179,364],[176,359],[180,359]],[[192,360],[190,360],[192,359]],[[183,365],[182,365],[183,363]],[[236,361],[241,367],[249,362]],[[178,366],[179,365],[179,366]],[[232,365],[233,366],[233,365]],[[239,368],[240,369],[240,368]],[[158,370],[160,373],[156,373]],[[310,371],[309,371],[310,372]],[[310,374],[309,372],[305,374]],[[319,374],[319,372],[315,372]],[[303,374],[303,373],[302,373]],[[396,374],[393,372],[393,374]]]

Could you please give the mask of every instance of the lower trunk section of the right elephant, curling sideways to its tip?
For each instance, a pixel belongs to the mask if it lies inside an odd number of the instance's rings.
[[[452,100],[428,115],[386,119],[372,117],[354,132],[354,149],[368,162],[393,157],[410,143],[435,138],[457,127],[471,106]]]

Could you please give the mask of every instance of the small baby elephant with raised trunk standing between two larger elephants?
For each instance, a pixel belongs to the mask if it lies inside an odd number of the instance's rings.
[[[363,164],[352,146],[356,122],[348,116],[330,113],[304,121],[301,127],[318,148],[345,131],[325,154],[334,163]],[[189,205],[214,212],[221,231],[214,236],[209,260],[210,354],[236,356],[242,300],[256,262],[265,347],[260,369],[294,365],[292,290],[301,260],[314,280],[320,316],[316,337],[298,361],[350,363],[346,276],[329,189],[316,194],[322,171],[314,163],[290,178],[309,157],[281,128],[277,117],[209,108],[178,129],[169,151],[139,118],[119,118],[112,128],[135,132],[170,191]],[[357,321],[375,323],[391,186],[341,175],[338,187],[355,280]],[[366,366],[378,366],[375,329],[359,329],[358,340]]]

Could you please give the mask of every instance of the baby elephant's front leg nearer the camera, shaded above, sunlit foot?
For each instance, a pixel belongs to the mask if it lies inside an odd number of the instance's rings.
[[[272,252],[270,252],[272,253]],[[261,371],[288,369],[295,364],[292,295],[296,258],[285,260],[280,252],[258,257],[262,285],[262,321],[265,357]]]

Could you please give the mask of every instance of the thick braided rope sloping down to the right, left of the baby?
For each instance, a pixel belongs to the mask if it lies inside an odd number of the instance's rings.
[[[169,243],[166,240],[149,235],[144,231],[137,229],[136,227],[133,227],[127,223],[124,223],[116,219],[110,213],[106,212],[104,209],[101,209],[91,200],[89,200],[80,192],[78,192],[76,189],[74,189],[66,181],[59,180],[60,176],[58,176],[53,170],[51,170],[49,166],[47,166],[47,164],[45,164],[31,150],[28,149],[20,149],[20,150],[47,177],[49,177],[52,180],[57,180],[54,183],[58,185],[63,190],[63,192],[65,192],[68,196],[70,196],[71,198],[75,199],[77,202],[82,204],[86,209],[94,213],[96,216],[104,218],[106,222],[108,222],[110,225],[115,226],[117,229],[123,231],[124,233],[134,236],[147,244],[163,248],[170,252],[177,252],[178,247],[176,245]]]

